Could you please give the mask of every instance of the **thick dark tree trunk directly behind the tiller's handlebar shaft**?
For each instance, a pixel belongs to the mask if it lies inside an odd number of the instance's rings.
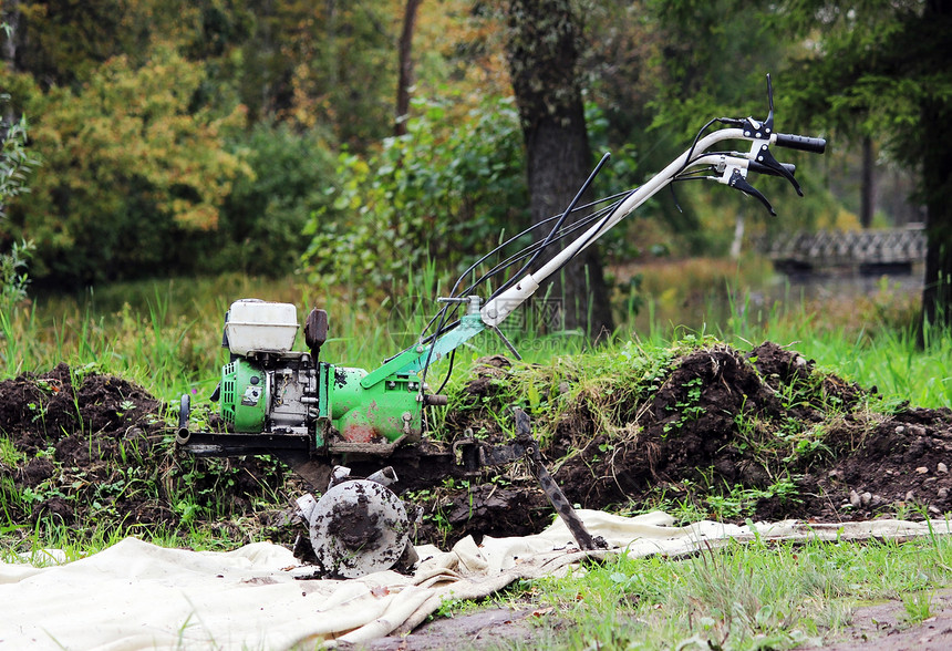
[[[562,213],[592,168],[577,71],[580,31],[571,0],[509,1],[506,53],[526,141],[534,224]],[[597,246],[582,251],[553,282],[537,294],[548,292],[550,300],[561,301],[565,328],[596,338],[613,329]]]

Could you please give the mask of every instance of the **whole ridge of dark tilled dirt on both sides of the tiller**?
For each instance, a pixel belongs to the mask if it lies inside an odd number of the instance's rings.
[[[484,360],[445,430],[504,443],[500,414],[488,412],[506,410],[499,401],[521,371],[505,358]],[[746,353],[700,348],[652,373],[639,391],[622,386],[638,378],[579,391],[567,378],[549,396],[561,406],[534,416],[571,503],[734,521],[952,512],[949,409],[887,409],[875,390],[769,342]],[[188,527],[200,517],[260,516],[262,500],[283,506],[298,489],[268,459],[176,457],[163,409],[125,380],[65,364],[0,382],[3,525]],[[520,463],[437,484],[416,493],[425,509],[417,541],[525,535],[552,519]]]

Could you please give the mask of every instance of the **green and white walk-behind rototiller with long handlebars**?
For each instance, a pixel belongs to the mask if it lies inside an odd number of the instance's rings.
[[[323,490],[320,499],[310,494],[298,499],[298,508],[309,525],[319,571],[327,576],[358,577],[407,567],[415,560],[410,542],[414,517],[387,487],[396,484],[396,469],[400,476],[437,483],[525,459],[579,548],[603,545],[589,535],[547,473],[529,418],[520,410],[515,411],[517,436],[507,445],[470,440],[447,446],[428,440],[426,407],[445,405],[446,396],[428,391],[427,371],[447,359],[452,371],[454,351],[484,331],[499,335],[518,358],[500,332],[500,323],[580,251],[674,182],[715,180],[756,198],[772,215],[776,213],[770,204],[748,180],[751,172],[786,178],[803,196],[794,165],[779,163],[770,147],[822,153],[826,141],[774,131],[769,75],[767,99],[766,120],[711,120],[684,154],[644,185],[579,205],[606,164],[608,155],[603,156],[562,214],[534,225],[477,260],[448,297],[437,299],[443,307],[416,343],[370,372],[320,359],[328,338],[325,311],[310,312],[303,326],[308,350],[294,351],[299,327],[294,306],[236,301],[226,314],[223,341],[231,361],[221,369],[220,384],[211,396],[219,403],[225,431],[190,431],[185,395],[178,445],[196,456],[275,455],[314,489]],[[715,124],[718,128],[704,135]],[[747,141],[749,149],[713,151],[724,141]],[[569,219],[576,215],[583,216]],[[548,229],[545,238],[515,254],[505,252],[540,227]],[[479,296],[490,278],[505,277],[508,279],[488,298]],[[415,514],[413,508],[410,512]]]

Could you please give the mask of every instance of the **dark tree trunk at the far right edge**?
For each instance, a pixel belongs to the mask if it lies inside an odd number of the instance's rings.
[[[922,18],[925,24],[952,24],[952,1],[930,0]],[[948,328],[952,327],[952,106],[939,99],[924,102],[920,133],[928,240],[922,317],[927,324]]]

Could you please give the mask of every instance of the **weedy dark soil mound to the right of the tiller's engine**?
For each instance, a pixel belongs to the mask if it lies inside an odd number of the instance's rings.
[[[486,360],[454,427],[490,440],[485,406],[503,391],[511,364]],[[884,410],[866,391],[816,370],[775,343],[747,354],[726,345],[673,361],[656,390],[619,403],[582,395],[560,412],[544,454],[570,502],[583,508],[651,507],[727,521],[824,521],[952,510],[952,411]],[[607,412],[613,414],[604,427]],[[509,477],[444,492],[430,519],[462,535],[539,530],[552,510],[536,483]],[[431,531],[431,536],[436,533]]]

